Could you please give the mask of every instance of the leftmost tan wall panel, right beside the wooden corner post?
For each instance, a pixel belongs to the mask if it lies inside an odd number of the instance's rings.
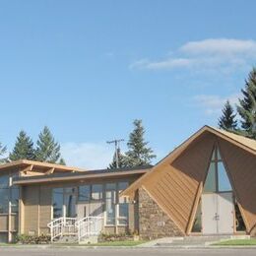
[[[24,188],[24,227],[25,233],[38,233],[39,186]]]

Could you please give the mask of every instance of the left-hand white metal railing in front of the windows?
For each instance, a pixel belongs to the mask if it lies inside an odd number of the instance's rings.
[[[65,218],[61,217],[58,219],[53,220],[51,223],[47,224],[47,226],[50,228],[50,236],[51,241],[54,240],[56,237],[61,237],[64,234],[77,234],[77,228],[76,228],[76,218]]]

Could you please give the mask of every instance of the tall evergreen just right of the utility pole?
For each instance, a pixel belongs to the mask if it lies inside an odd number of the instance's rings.
[[[156,158],[156,155],[153,154],[153,150],[150,147],[147,147],[149,143],[145,142],[144,139],[145,129],[142,125],[142,120],[136,119],[133,124],[134,130],[130,133],[127,143],[127,165],[133,167],[150,164]]]

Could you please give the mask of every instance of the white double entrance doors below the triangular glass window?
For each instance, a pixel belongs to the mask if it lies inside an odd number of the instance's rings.
[[[203,234],[233,233],[232,193],[202,195]]]

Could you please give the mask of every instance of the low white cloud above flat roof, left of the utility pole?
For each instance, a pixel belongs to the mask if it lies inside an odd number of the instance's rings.
[[[104,143],[64,143],[61,154],[67,165],[85,169],[105,168],[113,157]]]

